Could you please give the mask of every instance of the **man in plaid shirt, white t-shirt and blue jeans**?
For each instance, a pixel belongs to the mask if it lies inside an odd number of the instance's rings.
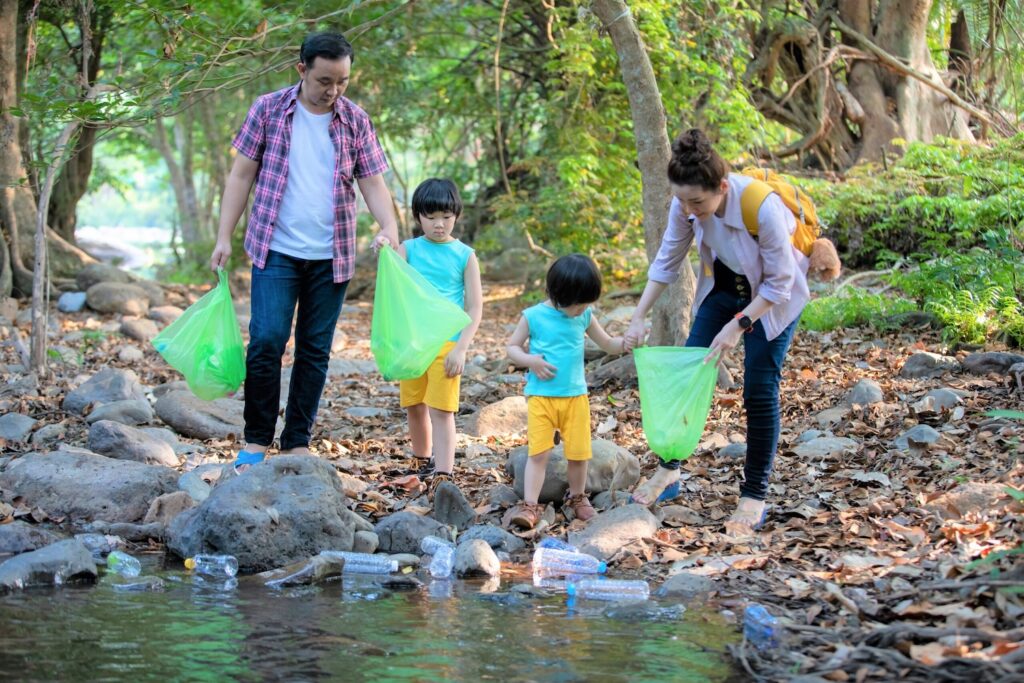
[[[252,317],[246,356],[246,445],[237,471],[263,460],[281,400],[281,358],[295,325],[295,362],[281,451],[308,454],[334,329],[355,266],[355,189],[381,231],[374,250],[398,244],[388,169],[370,117],[342,95],[352,46],[339,33],[306,37],[299,83],[257,98],[220,205],[213,269],[231,253],[231,232],[256,185],[245,249],[252,259]],[[354,182],[353,182],[354,181]]]

